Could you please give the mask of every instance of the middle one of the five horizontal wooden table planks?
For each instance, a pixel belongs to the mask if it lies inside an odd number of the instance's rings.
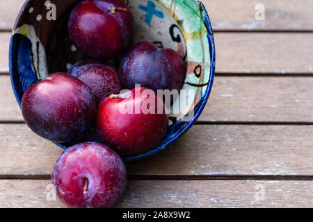
[[[313,78],[216,77],[200,121],[312,122]],[[0,121],[22,121],[8,76],[0,76]]]

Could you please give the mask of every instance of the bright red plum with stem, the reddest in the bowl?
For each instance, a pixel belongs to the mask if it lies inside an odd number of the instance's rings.
[[[152,89],[138,87],[104,99],[96,128],[101,141],[120,155],[141,155],[161,144],[168,114],[163,100]]]

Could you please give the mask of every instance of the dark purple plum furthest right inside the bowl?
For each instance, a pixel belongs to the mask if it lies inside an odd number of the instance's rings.
[[[180,90],[186,77],[186,65],[172,49],[159,49],[151,42],[139,42],[122,58],[119,77],[127,89],[141,84],[155,92],[158,89]]]

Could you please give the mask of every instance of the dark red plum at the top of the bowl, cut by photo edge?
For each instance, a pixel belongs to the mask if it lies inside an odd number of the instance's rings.
[[[84,0],[72,10],[68,30],[89,58],[118,58],[134,40],[134,18],[120,0]]]

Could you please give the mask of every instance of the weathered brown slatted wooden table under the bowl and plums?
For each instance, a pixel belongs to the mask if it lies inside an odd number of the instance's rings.
[[[27,128],[10,86],[22,3],[0,1],[0,207],[64,207],[50,190],[62,150]],[[179,141],[127,162],[117,207],[313,207],[313,2],[204,3],[217,51],[209,103]]]

